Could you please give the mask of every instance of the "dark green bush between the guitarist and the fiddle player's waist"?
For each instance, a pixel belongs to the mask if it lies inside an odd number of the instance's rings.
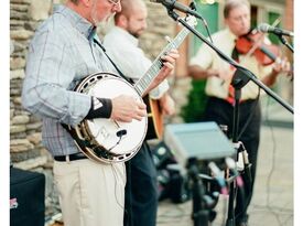
[[[192,90],[188,94],[188,103],[181,109],[181,117],[185,122],[199,121],[206,104],[206,80],[192,80]]]

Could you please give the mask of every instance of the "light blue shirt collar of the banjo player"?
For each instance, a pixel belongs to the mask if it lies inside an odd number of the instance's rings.
[[[96,33],[96,26],[94,26],[89,21],[87,21],[74,10],[66,6],[59,4],[55,7],[54,12],[67,18],[67,20],[75,26],[75,29],[77,29],[87,39],[94,37]]]

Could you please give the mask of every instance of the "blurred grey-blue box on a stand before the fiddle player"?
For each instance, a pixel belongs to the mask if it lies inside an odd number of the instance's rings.
[[[183,168],[190,159],[218,160],[236,154],[232,143],[214,121],[167,125],[164,141]]]

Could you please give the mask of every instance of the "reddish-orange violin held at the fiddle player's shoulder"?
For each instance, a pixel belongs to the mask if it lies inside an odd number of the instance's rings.
[[[236,41],[236,49],[239,54],[253,54],[257,61],[264,66],[274,63],[280,55],[279,47],[273,44],[266,44],[264,34],[256,29],[239,36]]]

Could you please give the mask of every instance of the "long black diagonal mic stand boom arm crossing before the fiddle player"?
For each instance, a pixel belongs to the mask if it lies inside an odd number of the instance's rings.
[[[288,109],[291,114],[293,114],[293,107],[290,106],[285,100],[283,100],[279,95],[277,95],[274,92],[272,92],[269,87],[267,87],[262,82],[260,82],[252,72],[250,72],[249,69],[242,67],[241,65],[239,65],[236,61],[234,61],[231,57],[227,56],[225,53],[223,53],[219,49],[217,49],[213,43],[210,43],[206,37],[204,37],[197,30],[195,30],[194,28],[192,28],[190,24],[186,23],[185,20],[183,20],[176,12],[174,12],[173,10],[169,10],[167,9],[167,13],[169,15],[180,22],[183,26],[185,26],[186,29],[188,29],[194,35],[196,35],[199,40],[202,40],[205,44],[207,44],[209,47],[212,47],[224,61],[228,62],[229,64],[231,64],[232,66],[235,66],[237,69],[241,71],[241,74],[246,75],[246,76],[241,76],[246,77],[244,80],[241,80],[241,78],[236,78],[237,80],[235,82],[235,84],[237,86],[241,86],[244,87],[249,80],[252,80],[257,86],[259,86],[261,89],[263,89],[269,96],[271,96],[273,99],[275,99],[280,105],[282,105],[285,109]],[[234,76],[235,77],[235,76]],[[232,78],[235,79],[235,78]]]

